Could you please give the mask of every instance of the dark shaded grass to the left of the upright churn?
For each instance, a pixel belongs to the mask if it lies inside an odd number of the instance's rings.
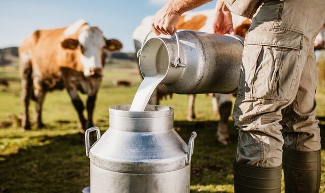
[[[83,135],[32,138],[38,146],[0,157],[0,192],[81,192],[89,184]]]

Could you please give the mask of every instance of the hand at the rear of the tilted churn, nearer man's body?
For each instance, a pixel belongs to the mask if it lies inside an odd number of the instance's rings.
[[[215,19],[213,22],[213,33],[220,35],[235,35],[232,14],[225,6],[223,0],[219,0],[216,4]]]

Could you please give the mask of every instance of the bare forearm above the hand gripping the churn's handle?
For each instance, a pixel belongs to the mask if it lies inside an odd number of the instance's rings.
[[[171,6],[172,9],[179,14],[183,14],[186,11],[192,10],[211,1],[212,0],[171,0],[168,3],[168,6]]]

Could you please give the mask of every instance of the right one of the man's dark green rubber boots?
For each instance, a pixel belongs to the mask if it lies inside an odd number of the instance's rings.
[[[283,148],[282,164],[286,193],[319,192],[320,150],[308,152]]]

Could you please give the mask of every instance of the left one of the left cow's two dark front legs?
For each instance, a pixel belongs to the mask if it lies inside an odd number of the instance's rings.
[[[75,87],[70,87],[68,89],[71,101],[75,107],[75,109],[77,110],[78,116],[79,116],[79,128],[82,129],[81,132],[84,132],[87,128],[86,128],[86,119],[83,115],[83,110],[84,110],[84,106],[82,101],[79,98],[79,94],[78,91]]]

